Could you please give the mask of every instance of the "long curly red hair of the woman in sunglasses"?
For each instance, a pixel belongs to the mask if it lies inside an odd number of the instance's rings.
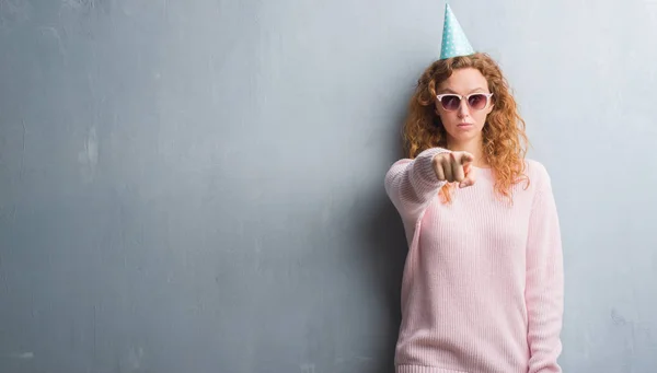
[[[414,159],[426,149],[447,148],[447,131],[435,110],[436,88],[454,70],[464,68],[477,69],[493,93],[495,106],[483,128],[483,152],[496,175],[495,190],[499,196],[511,200],[511,187],[522,179],[529,183],[529,178],[523,175],[529,140],[525,132],[525,120],[518,113],[509,84],[499,66],[487,54],[476,53],[437,60],[424,71],[417,81],[404,123],[405,151],[408,158]],[[447,202],[451,201],[452,188],[448,184],[440,189],[440,195]]]

